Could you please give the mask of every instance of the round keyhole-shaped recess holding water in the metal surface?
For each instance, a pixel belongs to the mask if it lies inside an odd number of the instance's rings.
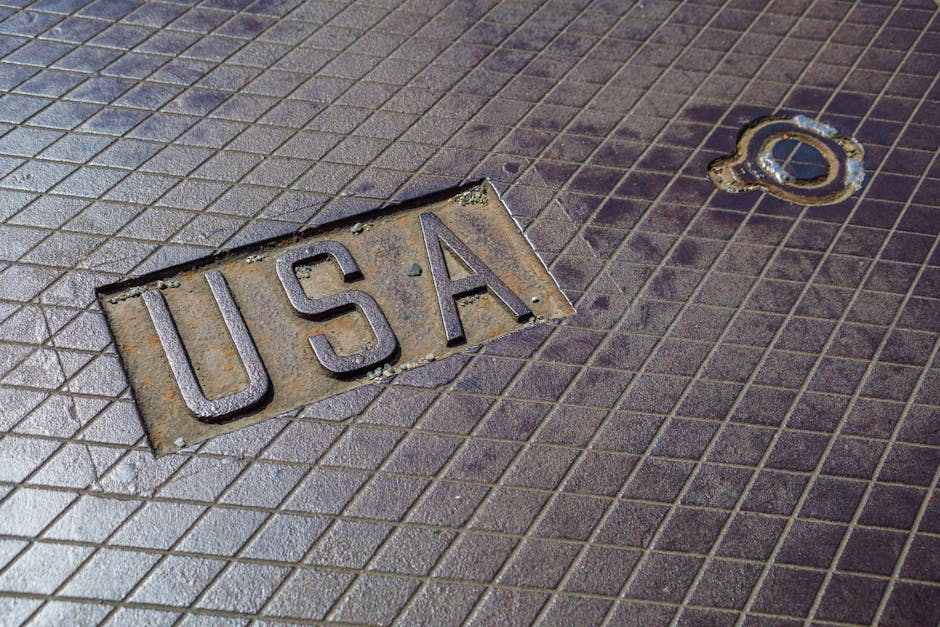
[[[766,117],[741,132],[734,155],[709,176],[728,192],[764,190],[803,205],[840,202],[862,186],[865,151],[855,139],[806,116]]]

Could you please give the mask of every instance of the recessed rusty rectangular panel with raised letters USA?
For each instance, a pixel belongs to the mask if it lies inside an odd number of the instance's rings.
[[[574,313],[486,181],[98,297],[158,455]]]

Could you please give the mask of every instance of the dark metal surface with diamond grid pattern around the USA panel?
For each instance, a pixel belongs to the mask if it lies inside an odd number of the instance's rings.
[[[940,620],[933,0],[0,15],[6,623]],[[717,190],[773,113],[862,190]],[[95,286],[481,176],[574,318],[154,459]]]

